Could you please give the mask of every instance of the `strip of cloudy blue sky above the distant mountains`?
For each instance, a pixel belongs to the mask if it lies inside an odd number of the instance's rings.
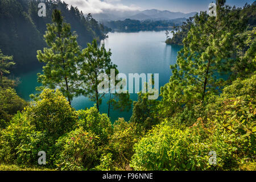
[[[134,11],[146,9],[169,10],[191,13],[207,11],[214,0],[64,0],[68,5],[79,7],[84,13],[103,13],[104,10]],[[226,0],[230,6],[242,7],[255,0]]]

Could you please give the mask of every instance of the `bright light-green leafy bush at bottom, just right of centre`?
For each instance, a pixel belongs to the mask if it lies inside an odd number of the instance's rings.
[[[135,170],[200,169],[205,159],[197,156],[203,152],[202,143],[195,146],[198,138],[188,129],[182,131],[162,123],[135,144],[131,167]]]

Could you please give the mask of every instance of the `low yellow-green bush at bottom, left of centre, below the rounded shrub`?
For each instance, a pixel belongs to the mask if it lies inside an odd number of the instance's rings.
[[[88,170],[97,163],[99,154],[97,135],[82,127],[60,137],[56,142],[55,165],[61,170]]]

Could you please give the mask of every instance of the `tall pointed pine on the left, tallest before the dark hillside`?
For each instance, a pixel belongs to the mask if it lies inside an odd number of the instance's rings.
[[[71,26],[63,22],[59,10],[52,13],[52,24],[47,24],[44,38],[49,48],[38,51],[38,60],[46,63],[43,75],[38,74],[38,81],[51,89],[58,88],[71,104],[79,87],[78,72],[81,62],[80,47],[77,35],[71,33]]]

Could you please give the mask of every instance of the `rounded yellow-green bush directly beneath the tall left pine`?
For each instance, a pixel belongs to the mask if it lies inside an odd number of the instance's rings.
[[[46,131],[52,139],[71,131],[77,115],[63,94],[59,90],[45,89],[40,98],[31,102],[24,112],[24,117],[35,125],[36,130]]]

